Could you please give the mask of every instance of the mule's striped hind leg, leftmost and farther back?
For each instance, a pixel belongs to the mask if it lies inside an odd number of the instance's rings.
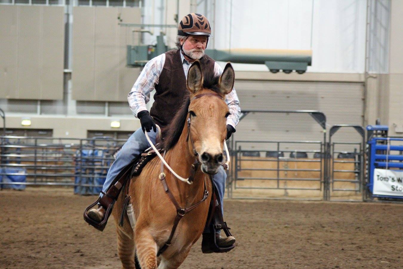
[[[127,224],[127,221],[125,224]],[[135,244],[133,238],[133,230],[131,227],[117,227],[118,234],[118,253],[123,268],[135,268],[134,255]],[[126,229],[125,229],[126,228]],[[129,229],[127,229],[129,228]]]

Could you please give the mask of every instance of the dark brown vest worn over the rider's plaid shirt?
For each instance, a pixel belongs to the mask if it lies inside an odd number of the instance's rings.
[[[150,115],[162,129],[169,125],[183,102],[189,96],[186,88],[186,77],[183,71],[180,50],[165,52],[165,63],[161,71],[160,81],[155,86],[154,104]],[[200,60],[202,70],[214,69],[214,60],[204,55]],[[162,131],[164,136],[165,132]]]

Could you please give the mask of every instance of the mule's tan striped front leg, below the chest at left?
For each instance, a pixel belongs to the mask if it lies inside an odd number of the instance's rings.
[[[138,224],[138,223],[137,223]],[[142,269],[157,269],[157,244],[146,228],[136,224],[136,254]]]

